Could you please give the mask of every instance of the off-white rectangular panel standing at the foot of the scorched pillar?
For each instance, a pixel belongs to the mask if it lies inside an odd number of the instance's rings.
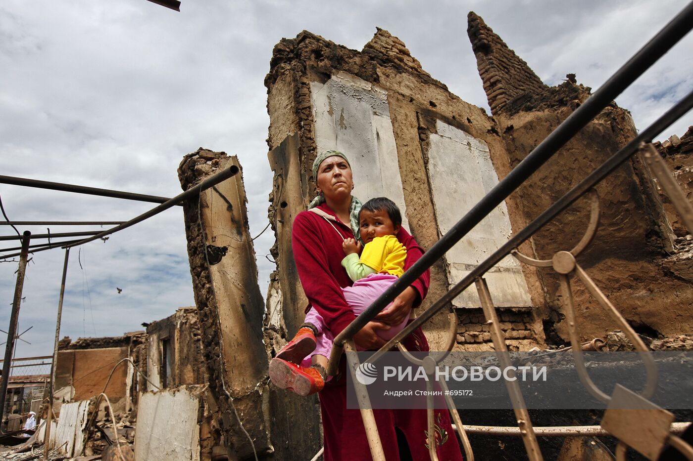
[[[199,461],[200,398],[186,388],[143,394],[137,409],[135,460]],[[169,421],[175,424],[165,424]]]

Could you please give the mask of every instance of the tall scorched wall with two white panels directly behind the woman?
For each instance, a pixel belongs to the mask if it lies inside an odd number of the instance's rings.
[[[483,109],[450,93],[444,84],[421,69],[400,39],[386,30],[378,28],[361,52],[304,31],[295,39],[282,39],[275,46],[270,66],[270,73],[265,78],[267,111],[270,114],[267,143],[271,150],[270,165],[274,170],[269,213],[277,236],[277,243],[272,248],[277,271],[272,275],[268,292],[266,321],[275,332],[268,341],[272,353],[279,350],[283,344],[282,337],[294,332],[304,316],[306,298],[292,261],[290,226],[295,215],[315,197],[315,179],[310,167],[318,151],[336,147],[347,156],[351,155],[352,159],[356,158],[352,161],[352,169],[356,183],[354,195],[357,197],[368,199],[388,195],[383,190],[392,189],[392,183],[395,183],[402,195],[398,205],[403,208],[408,228],[424,248],[437,242],[447,230],[448,222],[464,215],[463,207],[446,209],[450,197],[457,196],[439,194],[440,203],[437,203],[437,197],[432,197],[430,183],[434,173],[428,169],[428,161],[430,154],[439,150],[430,150],[430,136],[445,137],[437,132],[442,129],[446,133],[455,132],[456,136],[478,145],[478,150],[464,152],[466,157],[459,158],[451,171],[463,176],[464,170],[477,162],[477,156],[485,155],[490,171],[483,188],[492,187],[493,181],[505,176],[510,165],[497,126]],[[354,105],[363,103],[370,106],[357,107],[349,112],[351,108],[348,105],[353,100],[358,100]],[[366,143],[371,136],[376,145],[374,148]],[[379,159],[380,165],[368,163],[371,156]],[[389,168],[393,165],[393,158],[394,166]],[[364,163],[369,165],[368,168],[363,167]],[[387,165],[387,173],[381,172],[383,165]],[[368,169],[375,172],[364,171]],[[361,192],[365,191],[361,195],[359,188],[362,188]],[[462,192],[459,194],[464,198]],[[398,202],[397,197],[393,199]],[[505,226],[508,232],[511,228],[522,228],[526,222],[520,213],[520,204],[511,199],[505,206],[508,211],[500,214],[507,215]],[[491,233],[497,232],[493,226],[489,228]],[[475,241],[471,242],[473,246]],[[531,251],[529,244],[523,248]],[[475,262],[472,258],[453,267],[455,261],[452,257],[448,254],[448,259],[432,267],[431,287],[423,307],[439,298]],[[508,301],[508,306],[527,309],[520,316],[523,325],[529,325],[530,341],[542,343],[541,323],[531,309],[543,302],[541,283],[532,268],[516,266],[514,271],[525,285],[520,287],[518,283],[516,288],[523,292],[518,296],[523,298],[523,302],[512,304]],[[472,287],[470,298],[476,296],[473,290]],[[500,297],[498,291],[496,296]],[[284,307],[283,311],[281,307]],[[444,343],[447,322],[446,314],[441,313],[426,325],[426,334],[433,347]],[[276,333],[283,328],[286,331]],[[464,336],[458,336],[458,340],[465,342]],[[476,349],[477,345],[473,348]]]

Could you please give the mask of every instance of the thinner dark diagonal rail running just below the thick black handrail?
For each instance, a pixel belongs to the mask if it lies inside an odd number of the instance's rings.
[[[565,208],[568,208],[572,204],[574,204],[577,199],[579,199],[582,195],[584,195],[588,190],[596,186],[599,182],[601,182],[604,178],[606,178],[613,170],[618,168],[622,163],[627,161],[635,152],[638,152],[638,149],[640,148],[640,143],[642,142],[650,142],[652,141],[652,138],[654,136],[657,136],[660,134],[666,127],[674,123],[674,121],[678,120],[678,118],[681,118],[684,114],[686,114],[687,111],[693,108],[693,91],[691,93],[688,93],[688,96],[683,98],[678,104],[676,104],[672,109],[669,109],[666,114],[658,118],[652,125],[647,127],[647,129],[644,129],[638,136],[636,136],[633,141],[628,143],[625,147],[623,147],[620,151],[616,152],[611,156],[608,160],[606,160],[602,165],[597,168],[597,170],[593,171],[592,173],[589,174],[588,177],[580,181],[580,183],[577,184],[574,188],[569,190],[563,197],[558,199],[552,206],[547,208],[547,210],[544,211],[544,213],[541,213],[534,221],[531,223],[527,224],[527,227],[525,227],[523,230],[520,230],[516,235],[511,237],[503,246],[498,248],[498,250],[495,251],[491,256],[486,258],[486,260],[482,261],[478,266],[476,266],[470,273],[466,275],[462,280],[457,282],[453,288],[451,288],[447,293],[444,294],[444,296],[441,296],[439,300],[437,300],[431,307],[426,309],[426,311],[423,311],[419,316],[417,316],[412,322],[405,327],[401,332],[396,334],[394,338],[392,338],[390,341],[385,343],[383,347],[380,348],[376,354],[373,354],[369,358],[369,362],[375,363],[380,359],[380,356],[383,355],[383,353],[387,350],[392,349],[398,341],[401,341],[402,338],[405,338],[407,335],[409,335],[411,332],[414,331],[417,327],[423,325],[427,320],[429,320],[432,316],[436,314],[437,311],[448,305],[450,302],[452,302],[453,299],[459,293],[462,293],[468,286],[470,286],[475,278],[481,277],[486,273],[486,271],[489,271],[495,264],[498,264],[500,260],[502,260],[504,257],[506,257],[514,248],[517,248],[521,243],[525,242],[529,237],[532,237],[534,233],[536,233],[539,229],[543,228],[548,222],[550,222],[554,217],[558,216]],[[424,256],[426,256],[425,253]],[[423,259],[423,258],[422,258]],[[419,260],[421,261],[421,260]],[[416,262],[418,264],[418,261]],[[414,266],[416,265],[414,264]],[[412,269],[414,268],[412,266]],[[412,270],[410,269],[410,270]],[[405,273],[406,275],[406,273]],[[394,285],[393,285],[394,286]],[[387,292],[385,293],[387,294]],[[367,311],[365,311],[361,316],[365,315]],[[360,318],[357,317],[356,320]],[[354,321],[356,321],[354,320]],[[338,337],[338,336],[337,336]],[[335,344],[336,344],[337,339],[335,338]],[[334,356],[334,348],[333,348],[333,356]],[[332,361],[333,356],[330,357],[330,361]],[[338,360],[337,360],[338,362]],[[338,365],[339,363],[336,363]],[[330,364],[332,367],[332,364]]]

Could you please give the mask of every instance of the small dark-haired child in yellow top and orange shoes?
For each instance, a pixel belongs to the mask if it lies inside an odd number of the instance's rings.
[[[355,239],[344,239],[342,266],[354,284],[343,288],[344,298],[357,316],[371,305],[404,273],[407,250],[398,240],[402,216],[394,202],[385,197],[363,204],[358,215],[362,247]],[[360,254],[360,257],[359,257]],[[407,325],[378,329],[385,340],[394,338]],[[311,307],[296,336],[270,361],[270,379],[279,388],[310,395],[324,387],[328,357],[334,336]]]

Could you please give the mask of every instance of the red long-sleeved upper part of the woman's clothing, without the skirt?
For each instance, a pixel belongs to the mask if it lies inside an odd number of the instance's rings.
[[[341,264],[344,257],[342,242],[345,238],[353,238],[353,233],[326,204],[317,208],[335,217],[335,221],[327,222],[324,217],[310,211],[299,213],[292,228],[292,250],[301,285],[310,303],[306,311],[311,305],[315,307],[337,336],[356,318],[342,293],[342,288],[353,284]],[[423,255],[423,249],[403,228],[397,239],[407,248],[406,271]],[[418,302],[426,297],[429,282],[430,273],[426,271],[412,283],[419,295]]]

